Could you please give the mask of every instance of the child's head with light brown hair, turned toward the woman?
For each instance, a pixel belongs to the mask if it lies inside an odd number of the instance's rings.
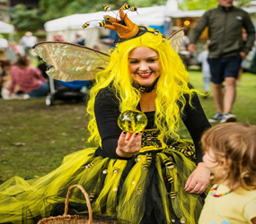
[[[214,174],[214,184],[239,183],[256,189],[256,126],[225,123],[207,130],[201,138],[203,160]]]

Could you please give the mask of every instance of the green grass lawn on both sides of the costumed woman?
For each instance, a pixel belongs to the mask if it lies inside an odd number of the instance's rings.
[[[204,92],[201,73],[190,72],[190,82]],[[256,125],[255,90],[256,75],[244,73],[233,109],[239,122]],[[199,98],[206,115],[213,116],[216,110],[212,94],[208,99]],[[66,154],[93,146],[86,142],[88,117],[83,103],[55,101],[47,107],[45,99],[0,99],[0,116],[2,181],[13,176],[41,177],[57,168]],[[182,138],[190,138],[182,124],[179,133]]]

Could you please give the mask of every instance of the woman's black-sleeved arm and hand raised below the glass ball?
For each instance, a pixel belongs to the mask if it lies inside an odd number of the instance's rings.
[[[120,130],[119,100],[110,89],[99,91],[94,113],[104,154],[112,159],[129,159],[140,150],[142,133],[129,134]]]

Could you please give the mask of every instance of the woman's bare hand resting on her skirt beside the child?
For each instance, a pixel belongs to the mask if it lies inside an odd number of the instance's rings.
[[[210,184],[210,171],[203,162],[190,174],[184,190],[190,194],[202,194]]]

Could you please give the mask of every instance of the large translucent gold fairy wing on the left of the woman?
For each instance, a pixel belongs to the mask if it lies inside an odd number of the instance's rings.
[[[51,65],[46,73],[56,80],[93,80],[96,73],[104,70],[110,56],[90,47],[67,42],[40,42],[34,52]]]

